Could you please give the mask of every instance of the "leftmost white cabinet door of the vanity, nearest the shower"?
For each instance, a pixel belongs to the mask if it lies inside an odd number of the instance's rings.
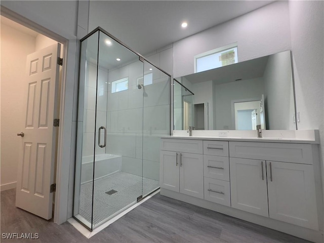
[[[160,187],[179,192],[179,153],[160,150]]]

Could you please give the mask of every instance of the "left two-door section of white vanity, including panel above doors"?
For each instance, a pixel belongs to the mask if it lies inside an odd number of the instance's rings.
[[[185,140],[178,141],[174,146],[172,142],[169,139],[161,144],[160,187],[204,198],[203,142]],[[192,150],[188,150],[188,146]]]

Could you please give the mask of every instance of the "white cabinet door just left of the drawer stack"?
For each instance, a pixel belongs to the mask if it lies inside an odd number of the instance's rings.
[[[180,192],[204,198],[203,154],[180,153]]]

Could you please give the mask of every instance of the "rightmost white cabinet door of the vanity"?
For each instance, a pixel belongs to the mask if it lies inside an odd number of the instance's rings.
[[[269,217],[318,230],[312,165],[267,161]]]

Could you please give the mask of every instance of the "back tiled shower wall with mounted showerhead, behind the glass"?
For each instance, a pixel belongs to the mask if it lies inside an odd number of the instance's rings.
[[[153,84],[138,89],[143,84],[142,66],[136,61],[108,72],[108,83],[129,77],[129,87],[111,93],[108,84],[106,152],[123,155],[122,171],[139,176],[143,159],[143,176],[159,180],[159,137],[170,133],[169,83],[164,73],[145,64],[144,74],[153,72]]]

